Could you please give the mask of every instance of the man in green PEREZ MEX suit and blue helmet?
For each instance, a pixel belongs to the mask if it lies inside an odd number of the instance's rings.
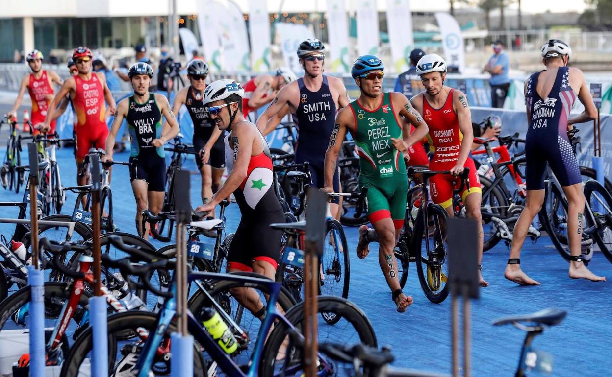
[[[373,231],[367,225],[359,229],[357,255],[365,258],[368,242],[378,240],[378,263],[391,288],[397,311],[404,312],[412,304],[412,298],[401,291],[394,256],[408,191],[403,155],[427,134],[427,124],[403,94],[382,91],[383,70],[383,62],[373,55],[360,56],[353,63],[351,75],[361,95],[338,113],[325,154],[323,190],[332,191],[338,153],[349,131],[360,156],[359,185],[368,188],[368,219],[374,226]],[[412,135],[408,134],[408,127],[402,127],[401,117],[417,126]]]

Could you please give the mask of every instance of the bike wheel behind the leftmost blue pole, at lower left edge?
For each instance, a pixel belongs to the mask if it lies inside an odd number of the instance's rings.
[[[70,297],[70,285],[68,283],[45,282],[43,289],[45,296],[45,328],[56,328],[61,326],[61,324],[58,323],[58,319],[62,315],[64,304]],[[79,324],[87,311],[89,296],[88,292],[83,292],[83,295],[81,295],[79,301],[76,303],[70,315],[70,321],[65,323],[64,334],[62,334],[61,337],[62,344],[54,345],[54,348],[61,350],[61,353],[54,354],[53,357],[59,356],[63,359],[70,347],[71,342],[69,342],[69,340],[72,340],[73,335],[81,331]],[[15,335],[19,335],[18,343],[19,346],[24,347],[24,353],[29,353],[28,317],[31,301],[32,288],[26,285],[0,304],[0,342],[4,344],[14,344],[16,340]],[[15,346],[17,346],[17,344]],[[3,358],[8,352],[9,350],[3,350],[3,353],[5,353],[3,354]],[[21,355],[15,355],[15,360],[12,362],[17,362],[20,356]],[[50,357],[51,354],[47,354],[47,356]]]

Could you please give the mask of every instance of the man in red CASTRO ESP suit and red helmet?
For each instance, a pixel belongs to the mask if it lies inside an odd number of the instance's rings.
[[[58,93],[51,101],[47,110],[47,117],[42,130],[50,128],[51,120],[55,119],[58,104],[70,94],[76,112],[76,181],[78,185],[85,185],[88,177],[79,177],[81,164],[92,147],[104,148],[108,126],[106,126],[106,103],[108,112],[115,112],[115,101],[111,91],[106,85],[103,73],[91,71],[92,54],[87,47],[78,47],[72,53],[72,60],[76,63],[78,75],[72,76],[64,82]]]

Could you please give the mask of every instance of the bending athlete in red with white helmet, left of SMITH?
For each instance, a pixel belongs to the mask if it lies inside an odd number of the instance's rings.
[[[242,97],[242,114],[247,118],[252,111],[257,111],[270,103],[276,97],[278,90],[286,84],[296,81],[297,76],[287,67],[280,67],[274,77],[259,75],[244,84],[244,97]]]

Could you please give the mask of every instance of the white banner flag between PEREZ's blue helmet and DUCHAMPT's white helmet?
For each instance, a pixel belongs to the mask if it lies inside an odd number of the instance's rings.
[[[408,69],[410,51],[414,48],[410,0],[387,0],[387,30],[392,67],[395,68],[395,73],[401,73]]]

